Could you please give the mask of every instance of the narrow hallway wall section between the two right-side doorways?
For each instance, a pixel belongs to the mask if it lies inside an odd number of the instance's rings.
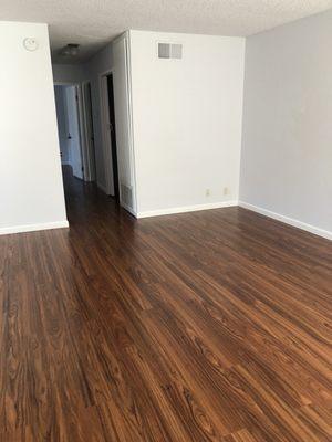
[[[95,162],[97,185],[105,191],[105,152],[102,137],[102,108],[101,108],[101,82],[100,76],[111,71],[113,67],[112,43],[94,55],[89,63],[85,64],[85,72],[91,82],[92,114],[94,127],[94,145],[95,145]]]

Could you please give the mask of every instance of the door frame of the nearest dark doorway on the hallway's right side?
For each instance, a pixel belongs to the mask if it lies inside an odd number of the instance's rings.
[[[114,197],[114,176],[113,176],[113,155],[112,155],[112,138],[110,135],[110,128],[107,122],[110,119],[110,107],[108,107],[108,85],[107,75],[112,74],[114,78],[114,70],[110,69],[98,74],[98,90],[100,90],[100,103],[101,103],[101,126],[102,126],[102,144],[104,154],[104,167],[105,167],[105,181],[106,181],[106,193]],[[121,186],[120,177],[118,181],[118,193],[121,200]]]

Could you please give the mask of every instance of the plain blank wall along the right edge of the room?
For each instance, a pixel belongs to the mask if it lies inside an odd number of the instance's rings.
[[[332,10],[248,39],[240,200],[332,239],[331,48]]]

